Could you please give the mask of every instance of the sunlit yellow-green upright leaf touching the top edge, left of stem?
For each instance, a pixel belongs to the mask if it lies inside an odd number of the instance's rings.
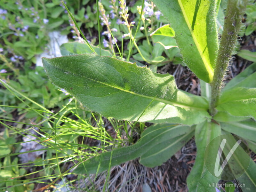
[[[215,1],[153,0],[170,22],[184,62],[196,76],[212,82],[218,51]]]

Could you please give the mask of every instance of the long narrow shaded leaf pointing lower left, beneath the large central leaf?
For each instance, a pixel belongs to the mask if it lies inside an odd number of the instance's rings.
[[[142,136],[137,143],[135,143],[132,146],[118,148],[112,151],[111,167],[119,165],[126,161],[136,159],[142,156],[143,154],[149,153],[149,151],[152,148],[154,148],[156,145],[161,144],[162,142],[168,142],[170,139],[180,137],[180,135],[181,136],[187,135],[190,132],[194,132],[194,129],[190,128],[189,126],[182,126],[182,125],[177,126],[173,124],[151,125],[150,127],[148,127],[148,129],[146,129],[142,133]],[[184,144],[185,143],[183,143],[183,145]],[[165,148],[166,145],[163,145],[161,147]],[[170,154],[169,158],[170,156],[172,155]],[[99,156],[94,156],[90,159],[86,159],[84,162],[78,165],[78,167],[74,170],[74,172],[76,174],[96,173],[100,163],[100,159],[101,159],[101,164],[100,164],[99,172],[105,171],[108,169],[110,157],[111,157],[111,151],[102,153]],[[156,160],[159,160],[159,159],[157,158]]]

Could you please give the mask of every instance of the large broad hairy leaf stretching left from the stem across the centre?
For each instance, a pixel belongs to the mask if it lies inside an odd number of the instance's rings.
[[[211,119],[208,102],[177,89],[174,77],[115,58],[84,54],[42,58],[53,84],[106,117],[140,122],[197,124]]]

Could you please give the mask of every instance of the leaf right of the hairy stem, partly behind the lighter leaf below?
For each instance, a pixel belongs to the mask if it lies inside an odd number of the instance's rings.
[[[256,87],[256,63],[251,64],[244,71],[235,76],[228,84],[224,87],[223,92],[230,88],[235,87]]]

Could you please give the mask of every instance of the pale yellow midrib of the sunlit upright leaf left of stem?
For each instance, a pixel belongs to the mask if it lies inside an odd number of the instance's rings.
[[[202,52],[201,48],[199,47],[198,42],[196,41],[196,36],[195,36],[195,34],[194,34],[194,32],[193,32],[191,26],[190,26],[190,23],[189,23],[189,21],[188,21],[188,16],[187,16],[187,14],[186,14],[186,12],[185,12],[185,9],[184,9],[184,6],[183,6],[181,0],[178,0],[178,3],[179,3],[179,5],[180,5],[180,9],[181,9],[182,14],[183,14],[183,17],[184,17],[184,19],[185,19],[185,21],[186,21],[186,24],[187,24],[187,26],[188,26],[189,32],[190,32],[190,34],[191,34],[191,36],[192,36],[192,39],[193,39],[193,41],[194,41],[194,43],[195,43],[195,45],[196,45],[196,48],[197,48],[197,50],[198,50],[198,52],[199,52],[199,54],[200,54],[200,56],[201,56],[201,58],[202,58],[202,60],[203,60],[204,66],[205,66],[206,70],[207,70],[208,73],[209,73],[209,78],[210,78],[210,80],[212,81],[212,79],[213,79],[213,71],[212,71],[212,70],[213,70],[213,69],[212,69],[212,67],[210,66],[210,64],[209,64],[209,65],[207,64],[207,61],[205,60],[205,57],[204,57],[204,55],[203,55],[203,52]]]

